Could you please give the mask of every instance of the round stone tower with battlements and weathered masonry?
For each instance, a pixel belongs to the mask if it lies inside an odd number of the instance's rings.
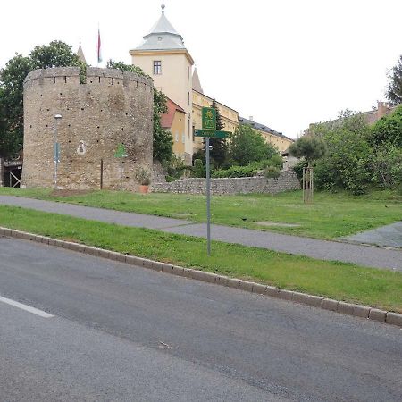
[[[136,172],[152,174],[153,84],[133,72],[75,67],[36,70],[24,81],[22,185],[54,183],[54,115],[61,114],[58,188],[138,189]],[[127,156],[114,154],[123,144]]]

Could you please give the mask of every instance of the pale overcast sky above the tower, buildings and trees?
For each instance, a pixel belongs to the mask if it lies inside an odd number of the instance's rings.
[[[15,52],[63,40],[96,65],[130,63],[162,0],[2,3],[0,67]],[[402,54],[402,0],[165,0],[165,14],[197,64],[205,94],[297,138],[339,110],[384,100]]]

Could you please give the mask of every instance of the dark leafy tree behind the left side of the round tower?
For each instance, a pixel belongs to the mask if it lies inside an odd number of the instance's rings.
[[[60,41],[36,46],[28,57],[15,54],[5,64],[0,71],[0,155],[11,157],[22,148],[23,82],[29,71],[67,66],[79,66],[85,70],[71,46]]]

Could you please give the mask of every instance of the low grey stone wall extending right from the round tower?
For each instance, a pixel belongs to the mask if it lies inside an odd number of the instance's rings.
[[[293,170],[281,172],[278,179],[265,177],[242,177],[211,179],[211,193],[215,195],[280,193],[299,189],[300,183]],[[156,193],[205,194],[205,179],[185,179],[170,183],[155,183],[152,191]]]

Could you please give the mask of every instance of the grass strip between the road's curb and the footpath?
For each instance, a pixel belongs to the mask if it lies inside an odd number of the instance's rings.
[[[402,313],[402,273],[0,205],[0,226]]]

